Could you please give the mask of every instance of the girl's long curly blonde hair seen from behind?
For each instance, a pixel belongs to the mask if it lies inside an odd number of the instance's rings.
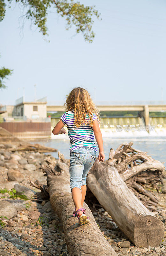
[[[81,87],[76,87],[66,96],[64,103],[65,112],[74,110],[74,124],[80,127],[82,124],[89,124],[93,127],[93,114],[96,114],[100,123],[100,111],[93,103],[88,91]],[[86,117],[86,113],[88,117]]]

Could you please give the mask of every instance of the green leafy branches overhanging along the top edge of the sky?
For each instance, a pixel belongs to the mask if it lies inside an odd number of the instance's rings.
[[[99,18],[100,14],[95,10],[95,6],[85,6],[74,0],[7,0],[9,7],[11,2],[15,1],[22,6],[24,18],[31,20],[31,24],[37,26],[40,32],[45,36],[47,33],[47,16],[50,8],[56,8],[57,13],[65,17],[69,29],[74,25],[77,33],[82,33],[85,40],[92,42],[94,32],[92,25],[94,23],[93,16]],[[6,3],[0,0],[0,21],[4,19]]]

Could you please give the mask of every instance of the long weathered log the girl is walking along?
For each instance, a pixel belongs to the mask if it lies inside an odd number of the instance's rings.
[[[69,184],[69,166],[63,162],[64,156],[59,151],[58,155],[57,163],[49,159],[49,165],[43,171],[47,174],[48,192],[52,208],[63,223],[69,254],[71,256],[117,256],[117,253],[97,226],[94,216],[85,202],[84,207],[90,222],[79,226],[78,219],[73,217],[72,212],[75,206]],[[54,169],[52,168],[53,165]]]

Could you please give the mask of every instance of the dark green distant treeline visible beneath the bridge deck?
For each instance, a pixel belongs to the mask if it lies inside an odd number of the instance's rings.
[[[47,112],[47,116],[60,117],[64,114],[62,111]],[[100,116],[138,116],[138,111],[100,111]],[[166,112],[150,112],[149,116],[166,116]]]

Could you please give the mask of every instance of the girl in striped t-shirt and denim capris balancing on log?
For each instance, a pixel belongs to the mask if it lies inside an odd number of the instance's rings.
[[[98,160],[104,161],[102,133],[99,128],[99,110],[94,105],[86,89],[74,88],[66,97],[64,104],[66,112],[52,130],[54,135],[66,133],[64,124],[67,125],[70,138],[70,188],[75,205],[73,215],[83,225],[90,220],[85,214],[83,202],[85,200],[87,186],[87,173],[97,158],[97,148],[94,136],[99,147]],[[94,132],[94,134],[93,134]]]

